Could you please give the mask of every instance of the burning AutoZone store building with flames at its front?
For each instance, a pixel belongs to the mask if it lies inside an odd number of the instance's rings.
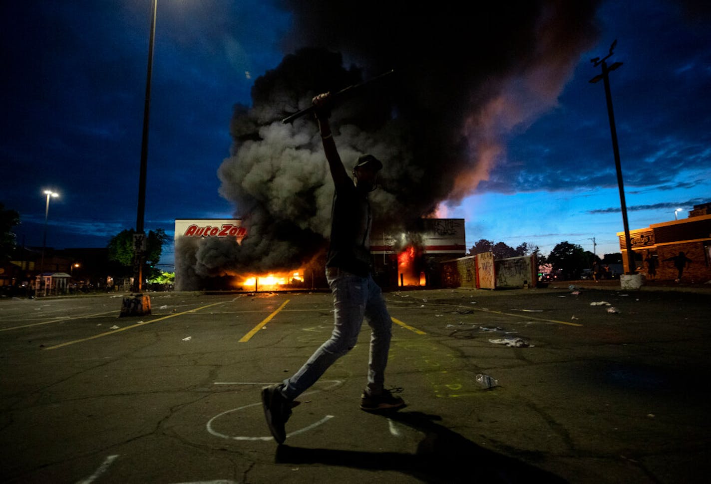
[[[326,287],[325,254],[299,267],[255,270],[230,260],[249,239],[241,219],[176,219],[176,289],[290,290]],[[421,219],[415,231],[373,231],[373,273],[383,287],[437,287],[439,262],[466,253],[464,219]],[[325,249],[324,249],[325,250]]]

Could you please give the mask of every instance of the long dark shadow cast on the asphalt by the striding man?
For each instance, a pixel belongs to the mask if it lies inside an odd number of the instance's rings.
[[[424,433],[414,454],[397,452],[304,449],[281,445],[277,463],[321,463],[373,471],[398,471],[427,483],[565,483],[559,476],[518,459],[483,449],[469,439],[435,423],[438,415],[389,412],[383,417]],[[532,457],[534,457],[532,455]]]

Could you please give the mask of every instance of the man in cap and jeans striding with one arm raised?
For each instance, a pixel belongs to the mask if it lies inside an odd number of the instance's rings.
[[[292,414],[294,399],[355,346],[363,319],[368,321],[371,334],[368,383],[360,397],[360,408],[378,412],[405,407],[402,398],[393,396],[383,387],[392,320],[380,287],[370,275],[372,214],[368,193],[375,189],[375,180],[383,164],[373,155],[360,156],[353,167],[354,180],[348,177],[328,122],[330,100],[330,93],[319,94],[314,97],[313,104],[324,153],[336,186],[331,212],[331,244],[326,257],[326,280],[333,294],[333,333],[291,378],[262,389],[264,417],[279,444],[286,439],[285,424]]]

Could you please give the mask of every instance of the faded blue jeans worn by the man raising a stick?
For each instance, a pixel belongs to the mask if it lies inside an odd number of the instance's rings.
[[[363,319],[370,325],[368,385],[370,395],[383,392],[387,352],[390,351],[392,319],[385,299],[373,277],[360,277],[338,268],[326,268],[326,280],[333,293],[333,333],[292,378],[284,380],[284,397],[294,400],[316,383],[338,358],[358,341]]]

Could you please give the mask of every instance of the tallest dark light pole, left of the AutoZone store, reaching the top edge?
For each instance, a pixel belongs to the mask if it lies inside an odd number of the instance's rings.
[[[146,99],[143,109],[143,138],[141,141],[141,167],[138,182],[138,209],[136,215],[136,234],[134,235],[134,291],[141,292],[143,285],[143,263],[145,256],[146,232],[144,231],[144,213],[146,211],[146,171],[148,166],[148,127],[151,112],[151,74],[153,72],[153,47],[156,36],[156,11],[158,0],[153,0],[151,12],[151,35],[148,43],[148,73],[146,75]]]

